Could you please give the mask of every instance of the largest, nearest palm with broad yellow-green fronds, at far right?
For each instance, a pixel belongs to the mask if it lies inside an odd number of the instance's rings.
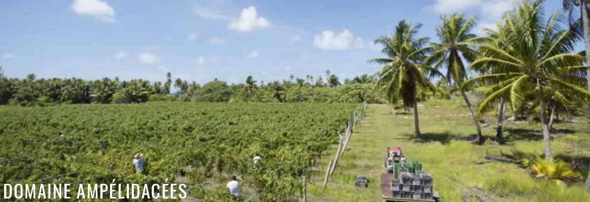
[[[473,81],[495,78],[493,93],[481,101],[478,113],[490,107],[500,97],[508,96],[513,109],[522,105],[526,92],[535,90],[540,104],[543,123],[543,144],[545,158],[551,159],[549,125],[546,115],[545,87],[559,87],[560,91],[575,94],[579,98],[590,98],[590,91],[560,79],[564,74],[585,69],[584,57],[572,53],[578,35],[569,29],[560,29],[560,13],[555,12],[543,22],[542,0],[523,2],[518,8],[504,16],[507,28],[507,48],[494,43],[479,46],[483,56],[471,62],[474,68],[494,68],[503,73],[482,75],[465,81],[461,88]],[[491,39],[488,39],[491,41]],[[518,71],[513,71],[517,69]],[[536,87],[535,87],[536,86]]]

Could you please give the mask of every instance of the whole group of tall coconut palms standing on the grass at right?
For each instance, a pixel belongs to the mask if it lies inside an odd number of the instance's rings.
[[[405,108],[414,108],[415,133],[421,135],[418,89],[434,88],[431,78],[445,78],[463,97],[478,144],[483,142],[480,120],[485,112],[499,108],[495,139],[501,143],[505,105],[513,114],[522,114],[523,108],[536,111],[543,125],[545,158],[551,159],[550,124],[556,110],[590,103],[590,91],[585,89],[590,75],[584,65],[584,55],[590,50],[574,52],[584,37],[588,46],[589,2],[563,2],[566,12],[558,10],[547,16],[544,1],[523,1],[506,12],[495,29],[484,29],[484,36],[472,32],[476,18],[462,14],[441,16],[438,41],[418,37],[421,24],[400,21],[392,34],[375,40],[383,45],[385,55],[371,60],[383,65],[378,88],[389,103],[401,101]],[[572,18],[576,6],[582,9],[583,19]],[[486,90],[474,108],[465,92],[476,87]]]

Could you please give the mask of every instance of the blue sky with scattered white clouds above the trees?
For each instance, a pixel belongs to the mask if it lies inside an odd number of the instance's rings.
[[[436,40],[440,16],[476,16],[493,28],[517,0],[231,1],[2,0],[0,65],[7,77],[120,77],[204,83],[341,79],[373,74],[382,57],[372,41],[402,19]],[[546,13],[561,0],[545,2]]]

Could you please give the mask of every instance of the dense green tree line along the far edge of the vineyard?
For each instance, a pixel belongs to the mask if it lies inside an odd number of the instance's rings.
[[[0,72],[1,68],[0,68]],[[324,78],[327,78],[324,80]],[[283,81],[258,82],[248,76],[243,83],[228,84],[215,78],[203,85],[166,74],[166,81],[143,79],[121,81],[118,77],[101,80],[81,78],[7,78],[0,74],[0,104],[119,104],[147,101],[202,102],[346,102],[382,103],[375,88],[375,76],[363,74],[346,79],[326,71],[325,77],[291,75]]]

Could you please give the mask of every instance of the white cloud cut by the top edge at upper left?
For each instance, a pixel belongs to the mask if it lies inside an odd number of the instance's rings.
[[[106,1],[76,0],[71,9],[79,15],[92,16],[103,22],[114,22],[114,9]]]

